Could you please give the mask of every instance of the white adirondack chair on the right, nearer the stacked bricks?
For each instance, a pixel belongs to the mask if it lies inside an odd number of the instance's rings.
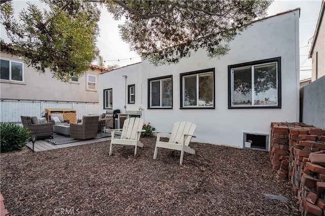
[[[193,135],[196,125],[191,122],[176,122],[174,124],[171,136],[168,142],[160,141],[160,133],[159,131],[154,131],[157,133],[157,141],[156,147],[154,149],[153,159],[157,158],[158,148],[172,149],[181,151],[181,159],[179,164],[183,163],[184,152],[195,154],[195,151],[188,147],[188,144],[192,137],[196,137]]]

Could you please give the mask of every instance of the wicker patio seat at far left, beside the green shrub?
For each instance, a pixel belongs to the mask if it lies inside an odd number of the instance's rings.
[[[35,135],[37,138],[40,137],[49,137],[53,138],[53,124],[52,123],[44,123],[44,124],[33,124],[31,122],[30,116],[20,116],[22,126],[28,128],[31,131],[30,135]],[[36,117],[34,117],[36,118]]]

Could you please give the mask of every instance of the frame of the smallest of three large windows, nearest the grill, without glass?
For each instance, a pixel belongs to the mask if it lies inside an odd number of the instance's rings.
[[[163,88],[163,85],[161,85],[161,82],[163,81],[168,81],[170,80],[171,81],[171,94],[170,94],[170,97],[171,97],[171,105],[170,106],[162,106],[161,105],[161,101],[163,101],[163,92],[162,92],[162,88]],[[152,105],[152,83],[153,82],[159,82],[159,101],[160,101],[160,104],[159,106],[153,106]],[[172,109],[173,108],[173,77],[172,76],[166,76],[166,77],[158,77],[158,78],[153,78],[153,79],[148,79],[148,109]]]

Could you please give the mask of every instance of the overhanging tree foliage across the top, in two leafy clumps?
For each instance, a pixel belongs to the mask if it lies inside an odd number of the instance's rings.
[[[55,78],[68,81],[71,75],[81,76],[99,54],[95,40],[100,12],[92,3],[104,4],[116,20],[124,17],[122,40],[159,65],[177,63],[200,48],[210,57],[225,55],[238,31],[266,15],[272,1],[44,2],[49,11],[30,5],[20,13],[21,23],[12,19],[11,4],[2,4],[2,23],[27,63],[42,72],[49,68]]]

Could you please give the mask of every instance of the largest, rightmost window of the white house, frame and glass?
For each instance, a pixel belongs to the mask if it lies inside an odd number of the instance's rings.
[[[281,107],[281,58],[228,66],[229,108]]]

